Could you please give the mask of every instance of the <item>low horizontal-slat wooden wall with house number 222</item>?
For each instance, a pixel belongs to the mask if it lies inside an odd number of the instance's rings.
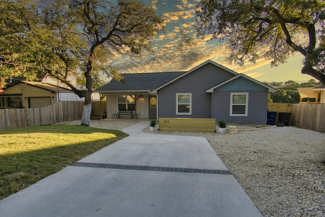
[[[159,131],[215,132],[215,118],[161,118]]]

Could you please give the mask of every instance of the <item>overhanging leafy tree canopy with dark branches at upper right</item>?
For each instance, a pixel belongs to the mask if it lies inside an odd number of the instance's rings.
[[[239,65],[264,56],[278,66],[299,52],[301,72],[325,84],[324,8],[322,0],[202,0],[196,28],[199,36],[228,41],[229,60]]]

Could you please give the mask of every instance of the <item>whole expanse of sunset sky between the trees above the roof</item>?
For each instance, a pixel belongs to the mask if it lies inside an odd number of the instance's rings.
[[[196,29],[192,27],[195,21],[193,7],[199,0],[143,0],[143,2],[155,8],[156,13],[166,19],[166,31],[157,35],[153,41],[153,54],[144,53],[141,58],[133,59],[113,54],[112,64],[118,66],[119,73],[187,71],[211,59],[261,82],[294,80],[301,83],[313,78],[301,74],[303,56],[299,53],[290,57],[286,64],[276,68],[271,68],[269,61],[264,58],[255,65],[247,63],[242,68],[230,65],[225,59],[229,53],[228,45],[221,44],[218,40],[211,41],[209,37],[202,40],[197,37]]]

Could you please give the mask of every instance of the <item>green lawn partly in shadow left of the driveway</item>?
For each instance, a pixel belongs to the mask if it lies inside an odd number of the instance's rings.
[[[64,125],[0,131],[0,200],[126,136]]]

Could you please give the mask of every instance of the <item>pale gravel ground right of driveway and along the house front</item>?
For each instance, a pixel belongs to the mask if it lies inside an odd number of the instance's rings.
[[[135,123],[105,119],[91,120],[90,126],[121,130]],[[206,137],[264,216],[325,216],[325,134],[295,127],[237,128],[243,131],[153,133]],[[149,133],[149,127],[143,131]]]

